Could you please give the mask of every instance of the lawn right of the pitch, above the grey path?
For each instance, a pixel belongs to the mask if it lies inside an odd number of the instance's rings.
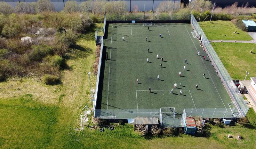
[[[252,40],[247,32],[238,29],[231,21],[205,21],[199,25],[209,40]]]

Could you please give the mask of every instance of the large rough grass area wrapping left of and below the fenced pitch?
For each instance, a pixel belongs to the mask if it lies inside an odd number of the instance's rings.
[[[63,71],[63,84],[49,86],[33,78],[0,83],[0,148],[256,147],[256,114],[252,108],[247,115],[250,124],[209,125],[207,135],[203,136],[179,134],[144,138],[135,133],[130,124],[116,124],[113,131],[105,128],[100,132],[87,127],[75,131],[81,109],[92,105],[87,73],[92,70],[96,47],[91,36],[93,32],[81,35],[77,46],[82,50],[71,50],[74,53],[67,60],[70,69]],[[93,75],[92,82],[95,86]],[[226,137],[229,133],[234,136],[240,133],[243,140],[229,139]]]

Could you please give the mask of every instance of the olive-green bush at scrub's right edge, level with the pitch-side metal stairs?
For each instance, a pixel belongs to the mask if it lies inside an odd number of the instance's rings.
[[[57,33],[56,38],[58,42],[63,43],[69,47],[76,44],[77,36],[73,31],[68,30],[67,33]]]

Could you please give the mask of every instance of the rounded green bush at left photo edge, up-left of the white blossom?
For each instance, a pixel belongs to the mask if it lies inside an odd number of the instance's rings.
[[[17,35],[18,33],[20,33],[20,24],[11,23],[4,25],[1,34],[6,38],[11,38]]]

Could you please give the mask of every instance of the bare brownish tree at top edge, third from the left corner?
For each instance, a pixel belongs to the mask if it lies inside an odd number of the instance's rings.
[[[38,12],[55,11],[55,8],[50,0],[38,0],[36,2],[36,9]]]

